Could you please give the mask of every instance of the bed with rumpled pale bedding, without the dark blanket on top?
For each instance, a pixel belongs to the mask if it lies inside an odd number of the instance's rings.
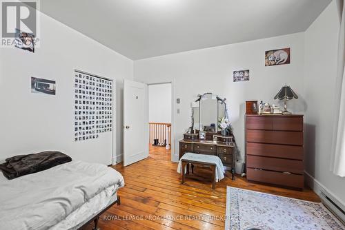
[[[8,180],[0,175],[0,229],[75,230],[117,203],[121,174],[105,165],[72,160]]]

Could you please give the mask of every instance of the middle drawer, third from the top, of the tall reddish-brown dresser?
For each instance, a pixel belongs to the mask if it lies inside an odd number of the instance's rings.
[[[246,154],[303,160],[303,147],[293,145],[246,143]]]

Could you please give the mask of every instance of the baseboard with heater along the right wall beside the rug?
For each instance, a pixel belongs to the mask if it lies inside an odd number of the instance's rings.
[[[308,174],[306,171],[304,171],[304,174],[306,175],[306,185],[313,189],[315,194],[321,198],[322,202],[345,222],[345,202],[335,196],[335,194],[329,191],[322,183],[313,178],[311,174]],[[339,209],[342,209],[342,211]]]

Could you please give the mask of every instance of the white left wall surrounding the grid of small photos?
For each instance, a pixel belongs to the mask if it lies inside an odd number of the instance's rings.
[[[51,149],[110,165],[112,152],[121,158],[123,151],[123,80],[132,79],[133,62],[45,14],[41,14],[40,39],[34,53],[0,49],[0,160]],[[112,138],[108,132],[75,143],[74,69],[116,79],[116,135]],[[57,94],[32,94],[31,76],[55,80]]]

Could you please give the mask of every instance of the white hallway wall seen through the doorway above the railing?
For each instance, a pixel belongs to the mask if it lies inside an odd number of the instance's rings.
[[[171,83],[148,85],[148,121],[171,123]]]

